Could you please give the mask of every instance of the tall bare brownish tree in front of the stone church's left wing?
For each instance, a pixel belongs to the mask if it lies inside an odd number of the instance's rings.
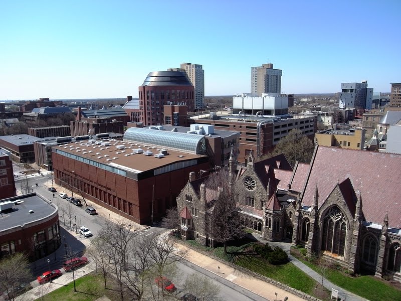
[[[237,199],[241,194],[227,169],[220,169],[206,180],[206,195],[209,202],[207,222],[210,225],[210,236],[224,244],[227,253],[227,242],[245,235],[242,230]]]

